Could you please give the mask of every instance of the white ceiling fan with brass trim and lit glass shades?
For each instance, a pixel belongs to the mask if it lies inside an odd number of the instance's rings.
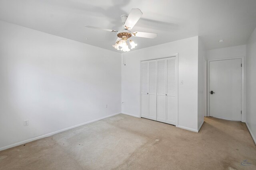
[[[100,29],[100,30],[104,30],[104,31],[116,32],[118,39],[116,39],[116,44],[112,45],[112,46],[117,50],[122,50],[122,51],[126,52],[126,51],[130,51],[130,49],[128,47],[128,44],[126,43],[127,40],[129,40],[129,42],[130,42],[131,49],[134,49],[137,46],[137,44],[134,43],[134,41],[132,41],[130,39],[130,37],[132,37],[132,36],[134,36],[134,37],[144,37],[144,38],[155,38],[155,37],[157,37],[156,33],[146,33],[146,32],[138,32],[138,31],[132,32],[132,31],[130,31],[130,29],[132,29],[134,27],[134,25],[138,22],[138,20],[140,19],[141,16],[142,16],[142,12],[138,8],[132,9],[128,16],[122,15],[121,20],[122,20],[124,29],[121,29],[119,31],[116,31],[116,30],[113,30],[113,29],[105,29],[105,28],[100,28],[100,27],[94,27],[94,26],[90,26],[90,25],[85,25],[85,26],[88,27],[88,28],[94,28],[94,29]],[[121,49],[119,49],[119,47],[121,47]]]

